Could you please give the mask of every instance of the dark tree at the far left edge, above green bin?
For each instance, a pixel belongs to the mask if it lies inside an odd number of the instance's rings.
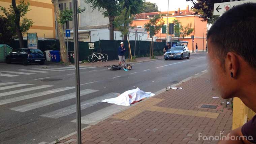
[[[12,25],[8,23],[8,19],[0,16],[0,44],[10,44],[15,38],[15,32],[12,30]]]

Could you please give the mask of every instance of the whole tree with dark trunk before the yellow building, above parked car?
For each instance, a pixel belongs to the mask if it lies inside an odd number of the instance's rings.
[[[2,11],[5,16],[10,31],[15,31],[15,35],[19,38],[20,48],[24,48],[23,34],[26,34],[29,28],[32,26],[33,21],[28,19],[25,15],[30,11],[28,9],[29,3],[25,3],[25,0],[20,0],[20,4],[16,5],[15,0],[11,0],[11,5],[8,10],[0,6],[0,11]],[[21,21],[22,18],[22,21]]]

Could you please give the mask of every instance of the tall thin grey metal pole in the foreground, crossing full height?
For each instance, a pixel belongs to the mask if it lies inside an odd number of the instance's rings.
[[[75,54],[75,95],[76,95],[76,126],[77,126],[76,133],[77,133],[77,144],[82,144],[77,1],[72,0],[72,3],[73,3],[73,31],[74,31],[73,34],[74,34],[74,54]]]

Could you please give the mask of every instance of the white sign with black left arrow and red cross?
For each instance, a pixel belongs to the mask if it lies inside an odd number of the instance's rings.
[[[233,1],[233,2],[222,2],[222,3],[215,3],[213,9],[213,15],[221,15],[224,12],[228,11],[232,7],[236,5],[240,5],[247,2],[256,3],[256,0],[241,0],[241,1]]]

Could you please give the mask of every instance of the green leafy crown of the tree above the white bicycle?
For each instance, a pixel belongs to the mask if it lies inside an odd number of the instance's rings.
[[[85,0],[85,2],[91,3],[93,10],[97,8],[105,17],[117,16],[119,13],[118,0]]]

